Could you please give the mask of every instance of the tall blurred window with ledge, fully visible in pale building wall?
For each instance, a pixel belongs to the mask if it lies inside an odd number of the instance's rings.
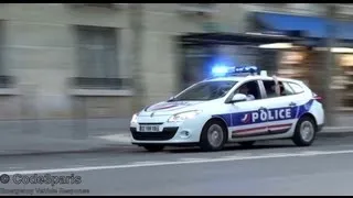
[[[120,89],[118,46],[115,28],[77,25],[77,77],[79,88]]]

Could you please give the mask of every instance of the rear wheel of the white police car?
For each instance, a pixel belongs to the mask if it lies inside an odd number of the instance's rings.
[[[310,146],[315,140],[318,127],[312,118],[302,117],[299,119],[292,141],[297,146]]]

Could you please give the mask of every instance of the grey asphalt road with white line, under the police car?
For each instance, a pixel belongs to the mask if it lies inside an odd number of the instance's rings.
[[[0,184],[0,195],[353,195],[352,136],[318,139],[310,147],[274,141],[214,153],[147,153],[131,146],[119,152],[7,156],[0,162],[0,182],[7,183]],[[35,174],[50,174],[53,186],[24,184],[25,176]],[[67,180],[75,184],[60,184],[65,180],[57,176],[72,176],[75,179]]]

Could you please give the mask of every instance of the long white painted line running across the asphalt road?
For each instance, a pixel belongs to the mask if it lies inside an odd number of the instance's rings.
[[[352,154],[353,150],[346,151],[318,151],[313,153],[292,153],[292,154],[271,154],[271,155],[258,155],[258,156],[237,156],[233,158],[208,158],[201,161],[180,161],[180,162],[160,162],[151,164],[127,164],[127,165],[111,165],[111,166],[86,166],[86,167],[71,167],[71,168],[52,168],[52,169],[32,169],[32,170],[15,170],[15,172],[0,172],[0,174],[46,174],[46,173],[67,173],[67,172],[88,172],[88,170],[103,170],[103,169],[122,169],[133,167],[152,167],[152,166],[167,166],[167,165],[182,165],[182,164],[201,164],[212,162],[232,162],[244,160],[260,160],[260,158],[282,158],[282,157],[300,157],[300,156],[319,156],[319,155],[334,155],[334,154]]]

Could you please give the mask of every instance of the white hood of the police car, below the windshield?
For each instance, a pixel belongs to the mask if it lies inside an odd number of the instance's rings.
[[[163,101],[145,108],[139,116],[170,116],[189,110],[197,110],[200,105],[206,101]]]

